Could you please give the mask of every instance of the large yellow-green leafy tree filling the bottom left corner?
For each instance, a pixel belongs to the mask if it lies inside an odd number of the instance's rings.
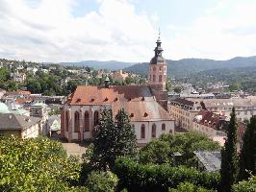
[[[0,140],[0,191],[76,191],[78,160],[47,138]]]

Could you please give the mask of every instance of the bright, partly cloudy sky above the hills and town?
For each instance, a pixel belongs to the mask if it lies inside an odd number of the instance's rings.
[[[256,55],[256,0],[0,0],[0,58],[228,60]]]

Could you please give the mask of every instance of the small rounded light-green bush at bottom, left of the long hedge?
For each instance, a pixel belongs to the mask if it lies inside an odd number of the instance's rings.
[[[86,185],[91,192],[114,192],[118,183],[118,178],[110,171],[91,172]]]

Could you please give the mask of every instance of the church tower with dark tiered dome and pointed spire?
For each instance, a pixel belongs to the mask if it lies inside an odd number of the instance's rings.
[[[162,57],[160,33],[155,48],[155,56],[150,60],[148,79],[150,86],[158,91],[166,90],[166,60]]]

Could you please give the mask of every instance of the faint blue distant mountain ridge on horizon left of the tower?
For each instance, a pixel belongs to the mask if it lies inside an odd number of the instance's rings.
[[[69,66],[90,66],[95,69],[110,69],[117,70],[125,67],[129,67],[136,62],[123,62],[116,60],[108,60],[108,61],[98,61],[98,60],[84,60],[79,62],[61,62],[61,64],[69,65]]]

